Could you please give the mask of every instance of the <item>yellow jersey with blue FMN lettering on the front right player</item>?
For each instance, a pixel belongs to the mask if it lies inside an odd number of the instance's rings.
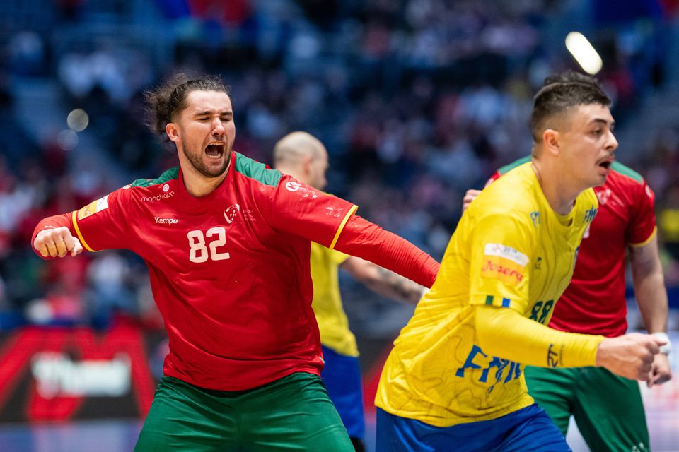
[[[533,403],[523,365],[478,345],[475,307],[514,309],[547,325],[597,210],[596,195],[587,189],[568,215],[555,213],[530,162],[484,189],[451,237],[434,286],[395,340],[376,405],[449,427]],[[551,354],[545,355],[549,361]]]

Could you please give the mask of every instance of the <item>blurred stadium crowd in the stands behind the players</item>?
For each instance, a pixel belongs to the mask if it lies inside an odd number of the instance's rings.
[[[105,328],[114,313],[158,326],[139,258],[107,251],[45,263],[30,251],[30,234],[40,218],[176,165],[141,107],[144,90],[176,69],[220,73],[231,85],[234,149],[270,163],[285,133],[313,133],[330,153],[328,191],[435,258],[465,190],[530,151],[530,93],[576,64],[562,49],[573,18],[588,18],[579,23],[605,61],[598,77],[618,129],[633,127],[649,93],[673,89],[663,38],[671,1],[630,18],[554,0],[54,0],[33,8],[39,3],[8,2],[0,15],[0,330]],[[66,129],[73,109],[86,112],[86,128]],[[672,289],[679,114],[639,133],[647,148],[625,153],[621,143],[620,157],[656,192]],[[679,299],[670,303],[679,308]]]

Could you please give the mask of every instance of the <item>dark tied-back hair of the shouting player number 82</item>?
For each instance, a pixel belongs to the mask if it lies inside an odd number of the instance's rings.
[[[217,76],[189,78],[184,73],[175,73],[162,85],[144,93],[144,99],[148,105],[147,124],[151,131],[162,136],[168,123],[186,108],[188,94],[196,90],[221,91],[230,94],[228,85],[225,85]]]

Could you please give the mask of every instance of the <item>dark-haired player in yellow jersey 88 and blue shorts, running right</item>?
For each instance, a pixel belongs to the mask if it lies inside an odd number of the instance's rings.
[[[569,451],[528,395],[526,364],[603,366],[646,380],[661,340],[546,325],[598,209],[617,141],[596,83],[547,78],[533,159],[465,211],[434,286],[395,340],[376,405],[377,451]]]

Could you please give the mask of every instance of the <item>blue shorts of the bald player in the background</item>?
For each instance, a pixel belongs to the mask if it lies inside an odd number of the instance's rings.
[[[366,436],[366,420],[363,412],[363,387],[359,359],[340,355],[323,345],[325,366],[320,378],[325,383],[327,395],[335,403],[342,423],[352,438]]]

